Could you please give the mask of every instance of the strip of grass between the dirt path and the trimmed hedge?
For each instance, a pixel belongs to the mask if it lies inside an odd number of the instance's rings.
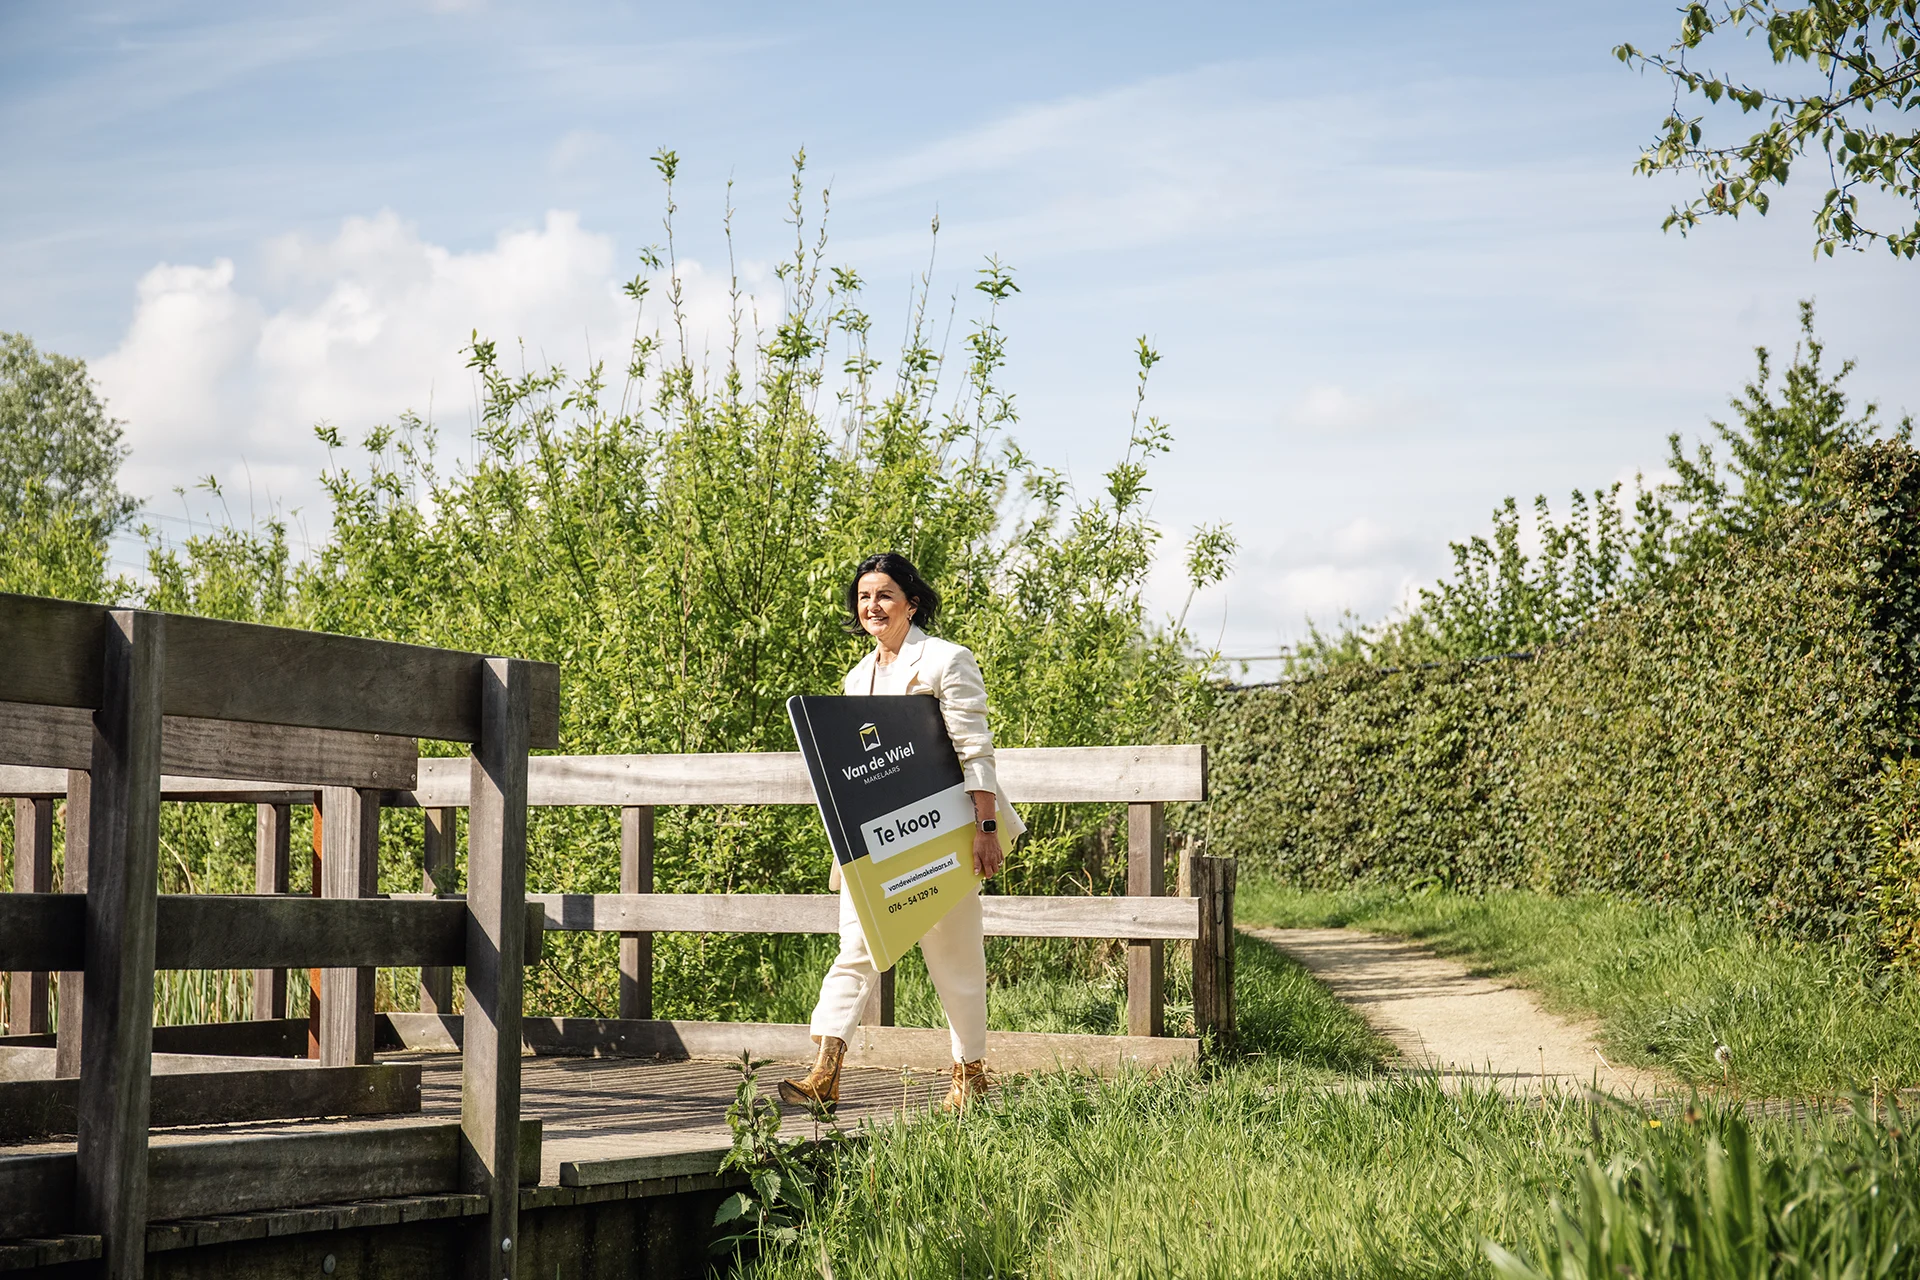
[[[1740,921],[1613,898],[1526,892],[1308,892],[1248,885],[1242,925],[1352,925],[1421,938],[1592,1013],[1620,1061],[1747,1096],[1920,1084],[1920,981],[1874,958],[1757,935]],[[1730,1071],[1715,1046],[1732,1052]]]

